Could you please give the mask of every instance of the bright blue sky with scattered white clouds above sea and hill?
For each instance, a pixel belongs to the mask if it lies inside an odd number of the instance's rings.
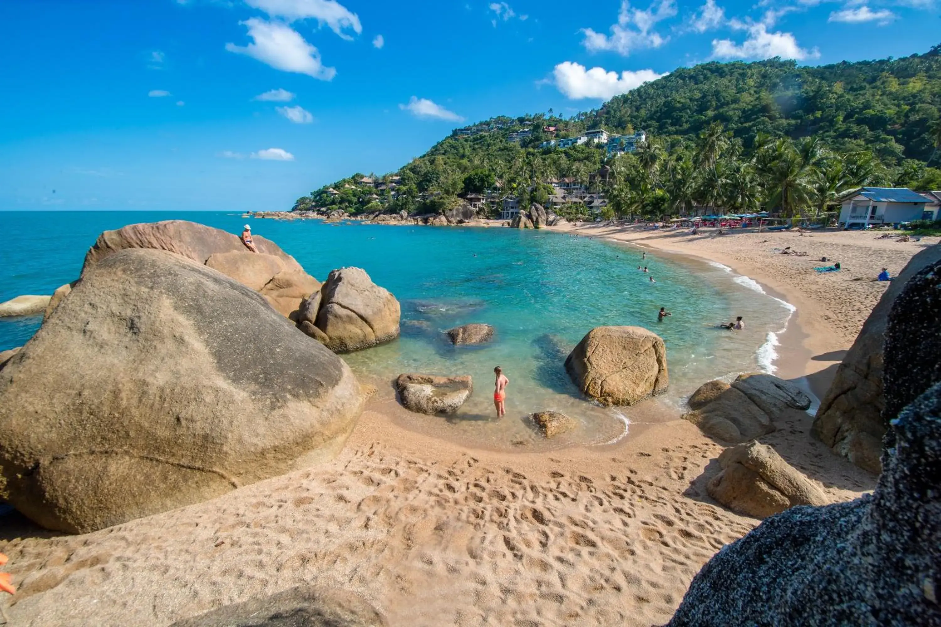
[[[3,0],[0,210],[289,209],[684,65],[923,53],[938,1]]]

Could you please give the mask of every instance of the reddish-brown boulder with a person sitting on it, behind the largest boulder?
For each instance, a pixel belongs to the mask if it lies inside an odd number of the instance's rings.
[[[85,256],[82,274],[125,248],[166,250],[215,268],[261,293],[282,315],[291,316],[301,300],[318,290],[320,284],[278,244],[261,235],[252,235],[252,241],[258,253],[248,250],[227,231],[195,222],[167,220],[128,225],[98,236]]]

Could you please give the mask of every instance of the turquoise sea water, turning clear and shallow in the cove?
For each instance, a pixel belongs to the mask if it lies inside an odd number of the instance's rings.
[[[246,222],[238,213],[220,212],[0,212],[9,243],[0,250],[0,301],[52,293],[73,280],[88,246],[105,229],[175,218],[233,233]],[[774,334],[791,312],[718,264],[649,253],[642,260],[640,250],[560,233],[304,220],[251,224],[321,280],[334,268],[356,265],[391,290],[402,303],[402,337],[344,358],[377,384],[384,402],[391,399],[389,382],[401,372],[470,374],[475,391],[456,418],[408,420],[487,447],[533,445],[523,416],[534,411],[563,411],[582,422],[560,444],[611,442],[623,435],[626,418],[643,420],[632,408],[603,409],[582,400],[568,380],[566,354],[592,327],[632,324],[663,337],[670,390],[662,401],[678,405],[710,379],[773,368]],[[658,322],[661,306],[673,316]],[[715,328],[736,315],[746,321],[743,332]],[[492,324],[495,340],[452,347],[442,332],[468,322]],[[39,324],[0,320],[0,350],[22,345]],[[500,423],[491,418],[497,365],[511,382]]]

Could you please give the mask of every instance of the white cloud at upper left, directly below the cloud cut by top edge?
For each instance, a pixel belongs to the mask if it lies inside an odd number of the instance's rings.
[[[332,80],[336,76],[336,69],[325,67],[320,52],[290,26],[258,18],[240,24],[248,27],[248,37],[254,42],[247,46],[227,43],[226,50],[229,52],[251,56],[276,70],[295,71],[322,81]]]

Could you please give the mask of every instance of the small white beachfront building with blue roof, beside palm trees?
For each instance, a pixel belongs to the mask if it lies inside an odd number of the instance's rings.
[[[928,198],[907,187],[860,187],[841,196],[840,203],[841,227],[866,228],[920,220]]]

